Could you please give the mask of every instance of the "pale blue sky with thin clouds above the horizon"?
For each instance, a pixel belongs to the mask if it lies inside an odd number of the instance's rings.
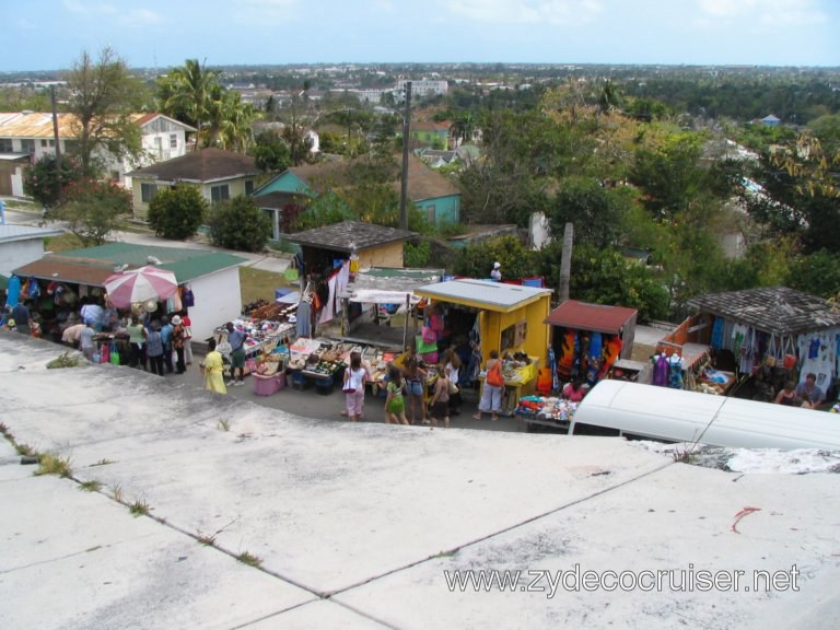
[[[0,0],[0,71],[502,62],[840,67],[840,0]],[[10,20],[11,19],[11,20]],[[10,23],[11,22],[11,23]]]

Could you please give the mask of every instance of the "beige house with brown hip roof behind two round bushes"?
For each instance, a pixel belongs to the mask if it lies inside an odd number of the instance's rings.
[[[250,195],[259,170],[254,158],[221,149],[201,149],[174,160],[128,173],[135,180],[135,219],[145,221],[149,203],[158,191],[176,184],[197,186],[201,196],[217,203],[240,195]]]

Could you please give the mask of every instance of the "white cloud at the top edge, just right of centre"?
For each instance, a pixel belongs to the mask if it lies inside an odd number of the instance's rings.
[[[599,0],[452,0],[442,5],[475,21],[555,26],[587,23],[604,10]]]

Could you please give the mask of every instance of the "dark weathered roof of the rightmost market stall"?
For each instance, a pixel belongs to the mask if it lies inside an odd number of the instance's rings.
[[[765,332],[797,335],[840,326],[840,311],[822,298],[788,287],[710,293],[690,306]]]

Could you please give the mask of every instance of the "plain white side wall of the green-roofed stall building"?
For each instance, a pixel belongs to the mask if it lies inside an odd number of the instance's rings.
[[[202,276],[189,284],[196,299],[196,305],[189,310],[196,341],[208,339],[213,329],[236,319],[242,313],[238,267]]]

